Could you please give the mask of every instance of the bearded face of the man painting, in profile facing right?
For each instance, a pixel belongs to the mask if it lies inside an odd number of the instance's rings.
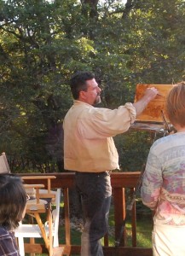
[[[87,91],[80,91],[81,100],[95,105],[101,102],[101,88],[96,83],[95,79],[86,81]]]

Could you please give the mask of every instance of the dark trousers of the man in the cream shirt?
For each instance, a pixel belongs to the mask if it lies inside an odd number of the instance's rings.
[[[110,174],[76,172],[75,177],[84,212],[81,256],[102,256],[101,238],[107,233],[112,195]]]

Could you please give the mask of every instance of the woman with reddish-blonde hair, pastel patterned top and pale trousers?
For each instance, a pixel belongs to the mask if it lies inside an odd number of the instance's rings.
[[[185,83],[174,85],[166,113],[176,133],[153,143],[142,181],[142,202],[154,211],[153,256],[184,256]]]

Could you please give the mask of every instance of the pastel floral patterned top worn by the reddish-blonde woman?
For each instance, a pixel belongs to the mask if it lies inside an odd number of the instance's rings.
[[[185,225],[185,132],[153,143],[143,175],[142,202],[154,224]]]

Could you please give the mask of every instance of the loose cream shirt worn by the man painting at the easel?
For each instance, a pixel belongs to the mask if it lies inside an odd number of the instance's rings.
[[[119,168],[113,137],[130,128],[136,109],[126,103],[116,109],[95,108],[74,101],[64,119],[64,167],[77,172],[105,172]]]

